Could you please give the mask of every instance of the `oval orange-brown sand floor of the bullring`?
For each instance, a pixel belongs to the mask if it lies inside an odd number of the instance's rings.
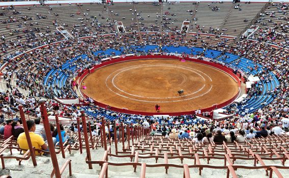
[[[98,102],[129,110],[190,111],[225,102],[238,93],[228,74],[206,65],[177,60],[138,60],[112,64],[84,78],[83,92]],[[184,90],[178,96],[178,90]]]

